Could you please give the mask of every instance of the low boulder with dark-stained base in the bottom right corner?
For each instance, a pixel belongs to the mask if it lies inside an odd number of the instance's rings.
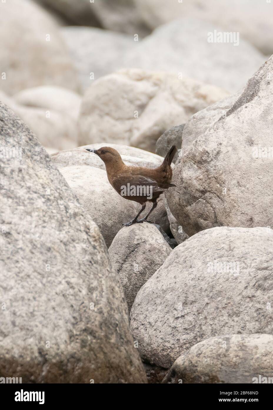
[[[224,335],[192,346],[163,383],[272,383],[272,369],[272,335]]]

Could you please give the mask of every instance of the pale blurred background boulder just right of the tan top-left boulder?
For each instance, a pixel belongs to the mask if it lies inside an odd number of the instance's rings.
[[[61,33],[83,91],[98,77],[123,68],[123,56],[134,46],[133,36],[99,28],[64,27]]]

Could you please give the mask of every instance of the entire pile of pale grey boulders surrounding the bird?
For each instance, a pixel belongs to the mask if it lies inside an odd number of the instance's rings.
[[[1,376],[273,377],[271,6],[199,3],[0,2]],[[154,223],[123,227],[139,203],[86,148],[172,145]]]

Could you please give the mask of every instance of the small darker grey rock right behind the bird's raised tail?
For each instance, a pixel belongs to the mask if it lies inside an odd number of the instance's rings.
[[[185,124],[181,124],[177,125],[176,127],[172,127],[170,130],[165,131],[157,140],[155,146],[156,154],[161,155],[161,157],[165,157],[170,147],[172,145],[175,145],[177,148],[177,152],[175,153],[175,156],[172,160],[172,162],[175,164],[181,150],[182,134],[184,127]]]

